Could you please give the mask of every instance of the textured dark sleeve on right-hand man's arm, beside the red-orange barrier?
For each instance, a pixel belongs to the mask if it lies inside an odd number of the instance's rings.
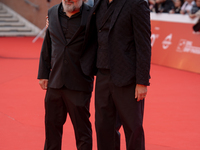
[[[136,84],[149,85],[151,62],[150,10],[145,0],[138,1],[132,12],[136,45]]]

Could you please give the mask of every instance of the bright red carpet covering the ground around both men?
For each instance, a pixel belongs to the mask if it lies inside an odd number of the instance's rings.
[[[42,39],[33,44],[33,38],[0,38],[0,150],[43,149],[45,91],[36,79]],[[151,76],[144,116],[146,150],[199,150],[200,74],[152,65]],[[123,129],[121,133],[125,150]],[[93,139],[96,150],[95,132]],[[76,150],[69,118],[63,150]]]

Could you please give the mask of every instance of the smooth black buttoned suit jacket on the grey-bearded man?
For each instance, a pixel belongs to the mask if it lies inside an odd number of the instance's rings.
[[[85,43],[86,23],[91,7],[83,4],[81,25],[67,43],[59,21],[59,7],[48,11],[49,27],[43,41],[38,79],[48,79],[48,87],[66,86],[72,90],[92,91],[94,54],[88,54]],[[88,29],[87,29],[88,30]]]

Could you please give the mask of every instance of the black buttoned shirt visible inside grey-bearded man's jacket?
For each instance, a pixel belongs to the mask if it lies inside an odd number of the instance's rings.
[[[63,11],[63,6],[61,5],[60,7],[59,19],[67,43],[71,40],[71,38],[74,36],[76,31],[80,27],[81,13],[82,8],[80,9],[80,12],[72,15],[71,17],[68,17],[66,15],[66,12]]]

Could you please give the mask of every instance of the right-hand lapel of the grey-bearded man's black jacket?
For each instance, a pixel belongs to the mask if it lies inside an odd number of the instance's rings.
[[[78,28],[76,33],[73,35],[71,40],[68,42],[68,44],[70,44],[79,35],[79,33],[85,28],[88,15],[89,15],[89,7],[83,3],[80,27]]]

